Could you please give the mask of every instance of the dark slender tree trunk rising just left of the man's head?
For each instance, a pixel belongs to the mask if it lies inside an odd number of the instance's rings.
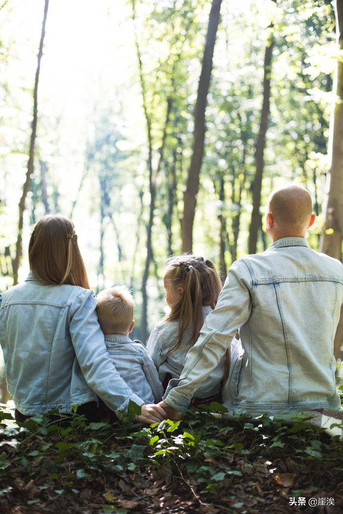
[[[272,57],[273,48],[275,44],[274,39],[274,27],[273,24],[270,26],[270,35],[267,41],[264,55],[264,75],[263,75],[263,103],[261,111],[260,131],[257,139],[255,162],[256,172],[254,177],[254,186],[252,190],[252,213],[251,223],[249,231],[249,253],[256,253],[257,248],[257,234],[261,227],[261,188],[262,188],[262,176],[264,166],[264,149],[265,139],[269,119],[270,111],[270,76],[272,73]]]

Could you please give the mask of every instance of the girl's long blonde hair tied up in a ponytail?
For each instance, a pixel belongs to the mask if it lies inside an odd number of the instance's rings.
[[[169,259],[165,280],[171,287],[182,287],[184,293],[171,307],[166,321],[178,320],[178,334],[170,351],[177,350],[182,343],[186,329],[192,325],[188,341],[193,346],[204,324],[203,307],[214,309],[222,283],[214,264],[204,257],[183,253]]]

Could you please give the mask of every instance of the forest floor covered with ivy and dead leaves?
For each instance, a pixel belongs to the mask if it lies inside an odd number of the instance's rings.
[[[341,440],[300,417],[18,427],[2,405],[0,421],[1,513],[343,512]]]

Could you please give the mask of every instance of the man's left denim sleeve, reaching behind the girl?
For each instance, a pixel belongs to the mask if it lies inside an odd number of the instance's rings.
[[[243,261],[232,264],[214,310],[208,314],[194,346],[187,352],[179,379],[172,379],[164,400],[174,409],[186,411],[194,392],[225,354],[236,330],[251,312],[251,278]]]

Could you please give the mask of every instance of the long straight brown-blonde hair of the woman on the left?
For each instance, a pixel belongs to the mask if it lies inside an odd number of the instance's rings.
[[[89,289],[74,224],[61,214],[46,214],[34,227],[29,242],[29,264],[33,273],[48,284]]]

